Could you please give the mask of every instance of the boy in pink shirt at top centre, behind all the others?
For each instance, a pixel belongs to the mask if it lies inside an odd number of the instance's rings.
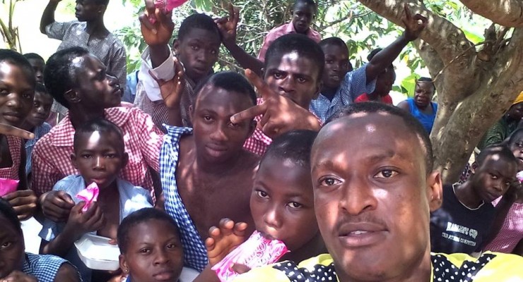
[[[310,27],[310,25],[312,25],[312,20],[316,17],[317,9],[314,0],[296,0],[291,11],[293,19],[290,20],[290,23],[275,27],[269,31],[265,36],[262,48],[259,49],[258,59],[262,62],[265,61],[267,49],[269,49],[274,40],[282,35],[300,33],[302,35],[307,35],[307,37],[318,43],[322,39],[322,36]]]

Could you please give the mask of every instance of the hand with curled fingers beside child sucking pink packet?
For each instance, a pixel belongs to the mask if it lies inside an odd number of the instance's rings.
[[[246,229],[247,223],[235,224],[230,219],[221,219],[218,227],[211,227],[208,232],[209,237],[205,240],[209,264],[214,266],[237,246],[242,245],[247,239],[245,238]]]

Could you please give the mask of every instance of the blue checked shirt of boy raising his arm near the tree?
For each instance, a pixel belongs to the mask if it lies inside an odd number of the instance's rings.
[[[327,118],[351,104],[360,94],[374,92],[376,80],[367,84],[366,68],[367,64],[347,73],[332,101],[320,93],[317,99],[311,101],[309,110],[325,123]]]

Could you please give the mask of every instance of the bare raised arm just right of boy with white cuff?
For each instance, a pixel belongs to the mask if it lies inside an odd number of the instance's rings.
[[[264,63],[254,56],[248,54],[242,47],[236,44],[236,29],[240,20],[240,9],[229,4],[229,16],[216,20],[216,25],[222,35],[222,42],[230,54],[236,59],[242,68],[249,68],[257,75],[262,75]]]

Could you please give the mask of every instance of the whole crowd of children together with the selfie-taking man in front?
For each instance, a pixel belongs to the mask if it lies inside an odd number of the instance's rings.
[[[187,17],[170,46],[153,2],[127,102],[107,0],[77,1],[71,23],[49,0],[40,29],[63,43],[47,62],[0,49],[0,281],[523,281],[523,129],[444,184],[432,80],[392,106],[392,61],[426,18],[406,6],[405,32],[353,69],[342,39],[312,29],[315,1],[296,0],[257,57],[236,44],[238,8]],[[213,73],[221,44],[245,75]],[[40,255],[23,243],[32,216]],[[118,269],[85,261],[89,235],[118,245]],[[284,251],[261,259],[271,244]]]

